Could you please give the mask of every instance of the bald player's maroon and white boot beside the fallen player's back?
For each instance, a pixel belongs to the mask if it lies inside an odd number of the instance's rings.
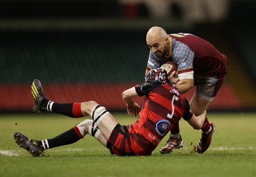
[[[161,150],[159,150],[160,153],[171,153],[175,149],[183,148],[183,140],[180,136],[179,139],[174,138],[172,135],[170,135],[170,138],[168,139],[167,143]]]

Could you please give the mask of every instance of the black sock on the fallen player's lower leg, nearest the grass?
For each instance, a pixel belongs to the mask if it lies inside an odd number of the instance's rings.
[[[55,148],[58,146],[63,146],[67,144],[72,144],[74,142],[77,142],[79,139],[79,135],[77,135],[74,128],[71,128],[70,130],[67,130],[67,132],[63,132],[62,134],[52,138],[47,139],[49,148]]]

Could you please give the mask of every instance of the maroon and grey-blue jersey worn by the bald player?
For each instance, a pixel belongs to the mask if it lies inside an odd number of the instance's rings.
[[[172,56],[157,58],[150,50],[147,68],[159,68],[166,61],[173,61],[178,72],[193,71],[199,75],[227,74],[227,57],[206,40],[189,33],[169,35],[172,38]]]

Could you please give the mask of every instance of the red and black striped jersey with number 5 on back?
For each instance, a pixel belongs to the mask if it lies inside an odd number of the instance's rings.
[[[127,126],[131,134],[132,150],[136,154],[152,152],[173,126],[184,118],[193,116],[188,101],[175,84],[161,85],[148,81],[135,86],[139,96],[145,96],[139,118]]]

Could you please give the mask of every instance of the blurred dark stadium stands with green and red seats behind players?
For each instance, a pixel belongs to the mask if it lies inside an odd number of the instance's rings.
[[[125,111],[121,93],[144,81],[152,26],[201,36],[226,54],[210,110],[255,111],[255,12],[254,0],[0,0],[0,112],[30,112],[36,78],[56,102]]]

